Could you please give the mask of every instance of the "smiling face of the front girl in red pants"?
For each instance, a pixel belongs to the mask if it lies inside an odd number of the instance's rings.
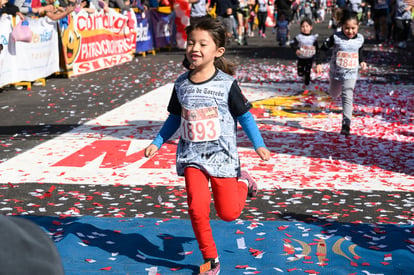
[[[224,51],[224,47],[217,47],[208,31],[195,29],[188,36],[186,55],[195,69],[214,66],[215,58]]]

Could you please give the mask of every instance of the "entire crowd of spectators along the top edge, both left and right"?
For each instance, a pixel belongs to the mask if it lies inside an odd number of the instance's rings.
[[[84,8],[92,13],[108,7],[120,11],[130,8],[148,9],[173,6],[169,0],[0,0],[2,13],[19,16],[48,16],[57,20],[74,10]],[[405,48],[413,32],[414,0],[188,0],[191,5],[191,22],[197,18],[216,16],[227,30],[227,43],[235,41],[247,45],[248,37],[255,33],[266,38],[269,9],[273,9],[279,45],[289,42],[289,26],[309,18],[314,23],[329,22],[329,27],[338,28],[338,18],[343,9],[349,8],[358,14],[361,24],[375,28],[378,42],[395,42]]]

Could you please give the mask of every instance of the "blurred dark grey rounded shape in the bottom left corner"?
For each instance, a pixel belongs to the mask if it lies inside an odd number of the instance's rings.
[[[0,275],[63,275],[54,242],[35,223],[0,216]]]

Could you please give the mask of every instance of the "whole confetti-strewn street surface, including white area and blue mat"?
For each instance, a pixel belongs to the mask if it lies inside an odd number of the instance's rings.
[[[272,58],[289,50],[274,47]],[[404,52],[368,46],[370,67],[357,82],[352,135],[344,138],[340,101],[326,94],[328,65],[305,88],[294,62],[263,60],[260,51],[236,55],[236,78],[272,159],[260,162],[238,133],[242,168],[260,190],[235,222],[217,221],[212,207],[222,273],[411,271],[414,81],[395,63]],[[2,121],[0,213],[44,227],[69,275],[190,274],[200,265],[175,173],[176,140],[153,159],[142,153],[167,116],[182,53],[142,61],[51,79],[47,88],[19,91],[18,100],[1,94],[0,112],[15,125]]]

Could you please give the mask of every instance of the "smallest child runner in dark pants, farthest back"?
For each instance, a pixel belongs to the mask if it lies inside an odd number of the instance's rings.
[[[305,85],[310,83],[313,60],[318,51],[318,34],[312,34],[312,20],[305,17],[300,21],[300,34],[293,39],[291,46],[296,49],[298,75],[303,76]]]

